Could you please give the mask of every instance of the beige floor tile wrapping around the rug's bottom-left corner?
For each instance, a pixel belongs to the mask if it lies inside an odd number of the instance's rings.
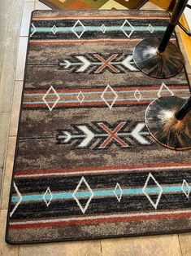
[[[7,210],[0,212],[0,255],[1,256],[19,256],[18,245],[8,245],[5,241]]]

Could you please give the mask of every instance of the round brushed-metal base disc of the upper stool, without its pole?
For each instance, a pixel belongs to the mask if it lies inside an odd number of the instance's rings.
[[[175,44],[168,42],[163,53],[158,51],[162,38],[146,38],[133,51],[133,60],[141,71],[150,77],[174,77],[184,65],[184,58]]]

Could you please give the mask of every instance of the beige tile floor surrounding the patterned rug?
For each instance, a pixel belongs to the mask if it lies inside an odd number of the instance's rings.
[[[143,9],[150,8],[153,8],[151,4],[143,7]],[[0,28],[2,29],[0,33],[0,46],[2,49],[0,51],[0,191],[2,191],[0,195],[0,255],[190,256],[191,233],[46,245],[6,244],[4,236],[7,204],[20,113],[29,20],[31,11],[34,9],[45,10],[50,8],[37,0],[1,0],[0,9],[2,10],[0,13],[0,23],[5,24]],[[2,13],[4,15],[3,17],[1,15]],[[9,22],[6,23],[5,20]],[[13,27],[14,29],[12,29]],[[6,35],[6,39],[2,38],[2,33]],[[191,66],[186,58],[179,33],[178,38],[180,40],[181,50],[185,56],[185,66],[191,82]]]

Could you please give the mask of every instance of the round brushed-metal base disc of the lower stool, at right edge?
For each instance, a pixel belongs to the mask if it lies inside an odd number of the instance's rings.
[[[185,99],[176,96],[155,99],[146,109],[145,124],[150,135],[167,148],[184,150],[191,148],[191,112],[178,121],[175,113]]]

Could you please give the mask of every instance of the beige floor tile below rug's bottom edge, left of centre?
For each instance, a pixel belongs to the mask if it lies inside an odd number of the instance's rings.
[[[20,256],[101,256],[100,241],[20,245]]]

